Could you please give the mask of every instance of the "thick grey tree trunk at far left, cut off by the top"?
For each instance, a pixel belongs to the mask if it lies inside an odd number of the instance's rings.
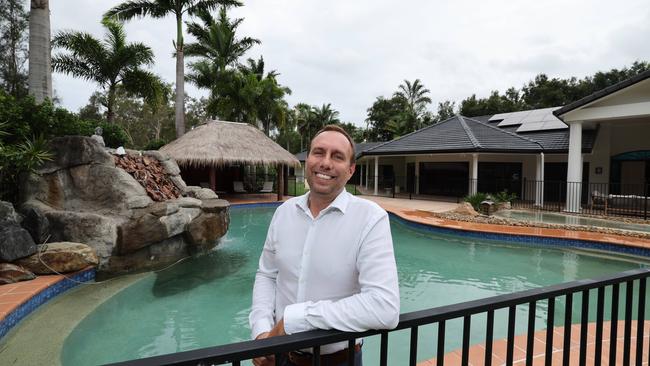
[[[31,0],[29,12],[29,94],[37,103],[52,99],[49,0]]]

